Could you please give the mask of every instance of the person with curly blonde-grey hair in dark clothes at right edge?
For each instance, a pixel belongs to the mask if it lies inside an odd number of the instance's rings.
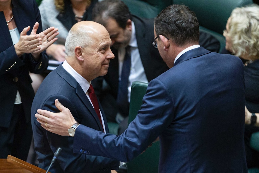
[[[245,151],[248,168],[259,167],[259,153],[249,146],[251,134],[259,131],[259,6],[235,8],[227,20],[223,36],[226,50],[244,62],[245,78]]]

